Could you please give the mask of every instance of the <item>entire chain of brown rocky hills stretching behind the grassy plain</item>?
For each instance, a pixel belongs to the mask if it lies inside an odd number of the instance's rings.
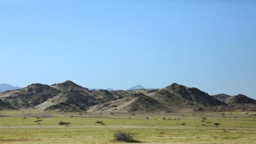
[[[60,84],[30,84],[0,93],[0,109],[39,109],[59,112],[195,112],[256,110],[256,100],[242,94],[214,96],[173,83],[148,90],[90,90],[68,80]]]

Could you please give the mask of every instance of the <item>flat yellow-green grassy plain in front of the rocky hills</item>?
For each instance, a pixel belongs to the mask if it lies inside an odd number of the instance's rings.
[[[119,130],[131,132],[144,144],[255,144],[256,112],[115,114],[51,113],[37,110],[0,111],[0,143],[12,144],[118,144]],[[72,116],[72,117],[71,117]],[[207,119],[202,122],[202,116]],[[26,117],[26,118],[23,118]],[[37,124],[37,117],[42,119]],[[129,118],[130,117],[130,118]],[[148,117],[149,119],[146,119]],[[163,120],[163,117],[166,120]],[[178,119],[180,120],[168,120]],[[96,124],[103,121],[106,125]],[[58,122],[70,122],[69,126]],[[220,123],[219,127],[211,124]],[[186,125],[181,125],[186,123]]]

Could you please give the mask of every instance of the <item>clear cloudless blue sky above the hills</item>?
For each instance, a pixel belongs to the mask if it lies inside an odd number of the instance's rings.
[[[0,83],[256,98],[255,0],[0,0]]]

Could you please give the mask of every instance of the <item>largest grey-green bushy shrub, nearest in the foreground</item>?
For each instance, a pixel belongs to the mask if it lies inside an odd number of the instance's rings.
[[[119,131],[114,133],[114,139],[121,142],[140,142],[134,140],[134,136],[129,132]]]

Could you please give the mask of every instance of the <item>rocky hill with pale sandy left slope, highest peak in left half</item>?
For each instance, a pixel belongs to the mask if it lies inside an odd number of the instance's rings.
[[[89,90],[68,80],[51,86],[60,93],[47,101],[35,106],[35,109],[62,112],[86,111],[88,107],[123,98],[107,90]]]

